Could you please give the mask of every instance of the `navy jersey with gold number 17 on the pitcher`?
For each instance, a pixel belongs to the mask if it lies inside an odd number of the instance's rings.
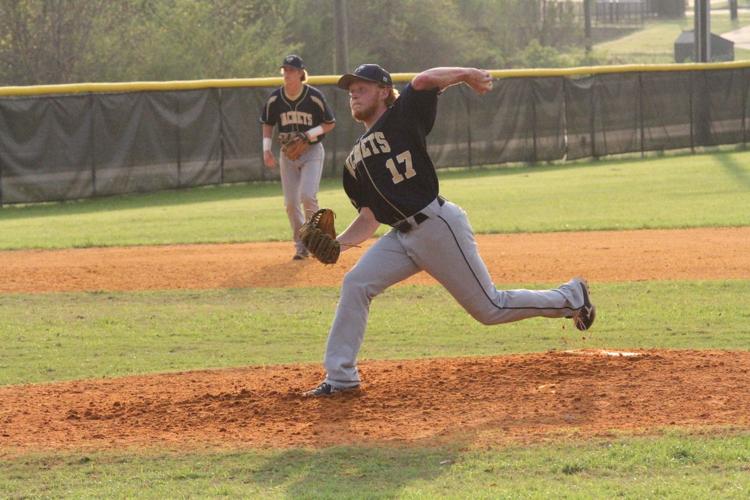
[[[437,89],[418,91],[408,84],[346,159],[346,194],[358,210],[370,208],[380,223],[410,217],[438,195],[425,140],[435,122],[437,96]]]

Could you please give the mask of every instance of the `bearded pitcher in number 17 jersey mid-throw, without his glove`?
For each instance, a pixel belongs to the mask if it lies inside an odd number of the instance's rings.
[[[574,278],[554,290],[497,290],[477,252],[466,213],[438,195],[438,178],[427,154],[438,95],[457,83],[479,94],[492,88],[487,71],[433,68],[418,74],[399,96],[390,74],[363,64],[342,76],[355,120],[365,133],[346,159],[344,189],[359,211],[337,241],[341,250],[371,237],[380,224],[393,229],[347,273],[325,353],[326,379],[306,396],[359,386],[357,354],[370,301],[389,286],[424,270],[478,321],[493,325],[534,316],[573,318],[588,329],[595,309],[588,285]]]

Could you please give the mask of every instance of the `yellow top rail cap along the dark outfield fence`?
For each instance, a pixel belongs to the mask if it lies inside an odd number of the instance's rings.
[[[562,76],[587,76],[607,73],[634,73],[655,71],[705,71],[750,68],[750,61],[734,61],[706,64],[627,64],[619,66],[585,66],[578,68],[498,69],[490,71],[493,78],[540,78]],[[393,73],[394,82],[407,82],[416,73]],[[335,85],[339,76],[311,76],[311,85]],[[207,88],[280,87],[281,77],[232,78],[215,80],[182,80],[168,82],[119,82],[119,83],[69,83],[61,85],[28,85],[0,87],[2,96],[42,96],[50,94],[122,93],[170,90],[199,90]]]

